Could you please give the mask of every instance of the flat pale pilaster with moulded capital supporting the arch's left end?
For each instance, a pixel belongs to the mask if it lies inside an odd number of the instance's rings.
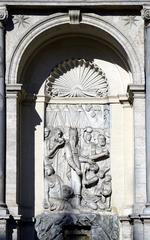
[[[18,214],[19,189],[19,116],[22,85],[8,84],[7,98],[7,151],[6,151],[6,202],[12,215]]]

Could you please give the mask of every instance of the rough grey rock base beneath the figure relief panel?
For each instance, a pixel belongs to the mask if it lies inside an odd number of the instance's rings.
[[[63,240],[65,229],[89,229],[91,240],[119,240],[118,217],[112,215],[43,213],[35,228],[40,240]]]

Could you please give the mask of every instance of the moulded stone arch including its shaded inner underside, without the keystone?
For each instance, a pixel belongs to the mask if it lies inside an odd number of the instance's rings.
[[[79,25],[69,24],[69,15],[56,13],[40,20],[33,25],[25,35],[19,39],[10,58],[10,66],[6,71],[6,81],[10,84],[21,82],[21,73],[29,56],[46,41],[64,34],[88,34],[97,39],[110,42],[111,46],[118,49],[125,62],[132,71],[133,81],[144,80],[143,69],[136,51],[130,41],[113,25],[91,13],[83,13]]]

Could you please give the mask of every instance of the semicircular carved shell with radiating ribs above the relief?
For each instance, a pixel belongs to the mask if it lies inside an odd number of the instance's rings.
[[[108,83],[96,64],[84,59],[64,61],[46,80],[46,94],[52,97],[105,97]]]

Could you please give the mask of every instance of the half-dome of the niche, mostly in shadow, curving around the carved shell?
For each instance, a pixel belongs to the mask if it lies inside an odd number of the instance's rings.
[[[72,58],[86,59],[101,67],[109,79],[110,96],[125,95],[127,85],[133,82],[127,62],[116,48],[103,39],[77,33],[47,41],[31,55],[20,78],[24,89],[30,94],[44,94],[45,79],[52,69]]]

